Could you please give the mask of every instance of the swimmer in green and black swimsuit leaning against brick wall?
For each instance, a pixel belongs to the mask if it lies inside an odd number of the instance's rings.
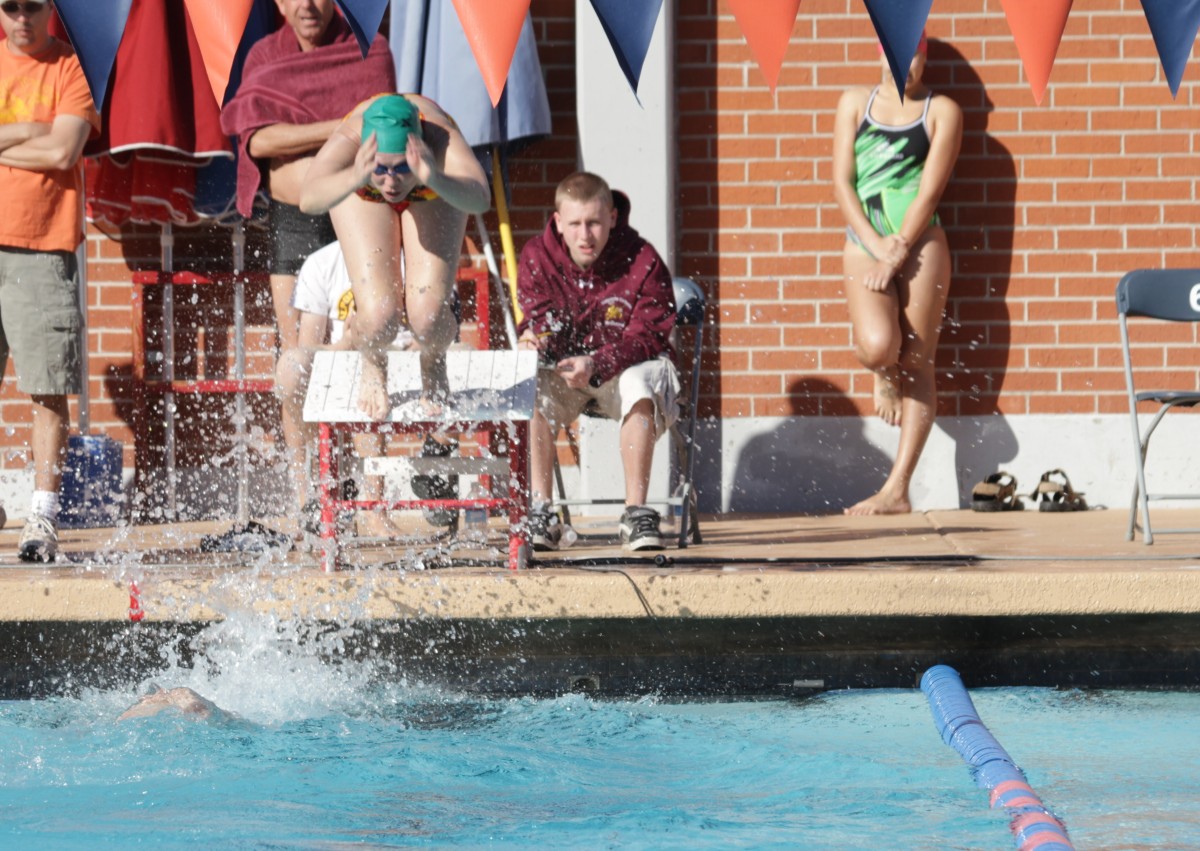
[[[851,89],[838,103],[833,182],[847,227],[842,271],[854,350],[875,373],[875,412],[900,426],[900,445],[880,491],[847,514],[912,510],[908,485],[934,425],[934,355],[950,286],[936,208],[962,139],[958,104],[922,83],[924,37],[899,86],[904,98],[881,64],[881,85]]]

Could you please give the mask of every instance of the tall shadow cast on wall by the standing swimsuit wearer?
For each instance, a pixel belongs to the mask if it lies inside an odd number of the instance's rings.
[[[959,505],[971,489],[1016,457],[1000,409],[1012,346],[1007,302],[1016,215],[1013,155],[988,133],[995,104],[971,62],[930,41],[926,80],[962,108],[962,150],[938,215],[954,271],[937,352],[937,425],[955,444]],[[1021,412],[1026,413],[1026,412]]]

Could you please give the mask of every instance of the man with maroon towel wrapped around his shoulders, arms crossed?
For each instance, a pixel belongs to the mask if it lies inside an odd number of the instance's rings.
[[[246,56],[238,94],[221,112],[221,128],[238,137],[238,211],[250,216],[265,175],[270,194],[271,298],[280,349],[296,346],[300,313],[292,292],[300,265],[335,239],[328,215],[299,209],[300,186],[314,155],[362,100],[396,88],[388,42],[376,36],[362,58],[334,0],[275,0],[287,25]],[[284,413],[284,436],[301,424]]]

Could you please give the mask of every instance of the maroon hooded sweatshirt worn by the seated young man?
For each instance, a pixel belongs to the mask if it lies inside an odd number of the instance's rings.
[[[580,269],[554,220],[526,242],[517,270],[517,296],[527,329],[547,341],[542,358],[589,354],[599,386],[635,364],[671,350],[674,289],[666,263],[629,226],[629,198],[612,193],[617,223],[595,262]]]

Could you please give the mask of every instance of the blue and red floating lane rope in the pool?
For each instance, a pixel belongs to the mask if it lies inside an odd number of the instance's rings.
[[[942,741],[959,751],[976,785],[989,791],[991,807],[1008,810],[1018,850],[1074,851],[1066,825],[1045,808],[1025,772],[979,720],[958,671],[935,665],[922,676],[920,690],[929,700]]]

